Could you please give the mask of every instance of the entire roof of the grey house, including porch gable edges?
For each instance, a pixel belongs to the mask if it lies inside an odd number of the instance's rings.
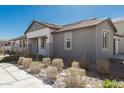
[[[31,25],[28,27],[28,29],[25,31],[24,34],[26,34],[28,32],[28,30],[32,27],[32,25],[37,22],[38,24],[47,26],[49,28],[54,28],[56,29],[56,31],[54,31],[53,33],[58,33],[58,32],[62,32],[62,31],[68,31],[68,30],[73,30],[73,29],[77,29],[77,28],[84,28],[84,27],[90,27],[90,26],[95,26],[100,24],[101,22],[104,21],[108,21],[111,26],[114,28],[114,31],[117,32],[116,27],[114,26],[113,22],[111,21],[110,18],[105,17],[105,18],[101,18],[101,19],[97,19],[95,17],[86,19],[86,20],[81,20],[75,23],[70,23],[70,24],[66,24],[66,25],[56,25],[56,24],[52,24],[52,23],[47,23],[47,22],[43,22],[43,21],[32,21]]]

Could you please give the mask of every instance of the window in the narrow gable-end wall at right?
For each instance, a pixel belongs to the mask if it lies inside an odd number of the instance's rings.
[[[103,32],[103,49],[109,49],[110,46],[110,33]]]

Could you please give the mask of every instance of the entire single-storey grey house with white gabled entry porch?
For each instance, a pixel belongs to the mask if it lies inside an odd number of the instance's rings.
[[[63,26],[34,20],[24,34],[34,54],[64,59],[87,57],[91,61],[113,56],[118,48],[114,41],[120,37],[110,18],[91,18]]]

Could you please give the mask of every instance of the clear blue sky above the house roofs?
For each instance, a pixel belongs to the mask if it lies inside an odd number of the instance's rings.
[[[91,17],[124,17],[124,6],[0,6],[0,39],[22,36],[33,20],[63,25]]]

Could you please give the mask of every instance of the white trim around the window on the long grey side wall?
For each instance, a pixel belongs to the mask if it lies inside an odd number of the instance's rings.
[[[67,48],[67,41],[68,41],[68,37],[67,34],[70,34],[70,48]],[[64,50],[72,50],[72,32],[65,32],[64,33]]]

